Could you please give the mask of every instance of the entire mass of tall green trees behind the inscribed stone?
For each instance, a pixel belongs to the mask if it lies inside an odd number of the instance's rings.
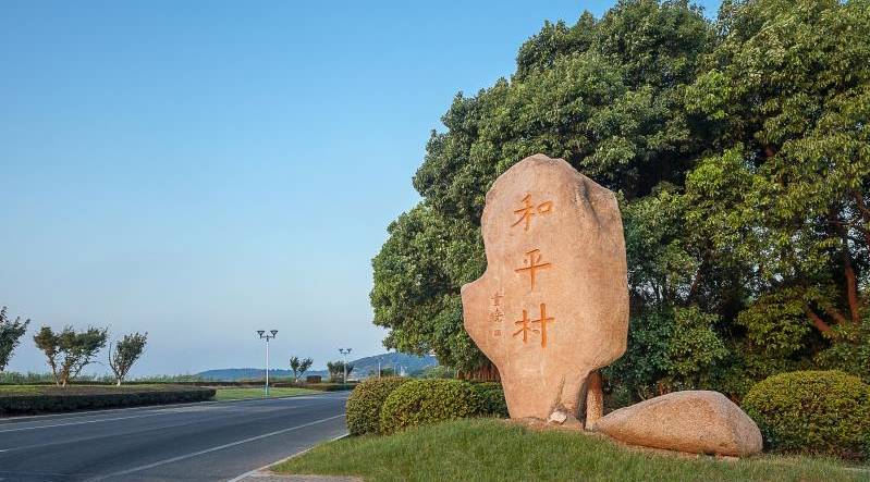
[[[547,23],[511,78],[457,94],[373,259],[384,345],[487,363],[459,287],[486,268],[495,177],[563,158],[621,200],[632,320],[605,372],[626,401],[834,367],[870,378],[870,3],[620,1]]]

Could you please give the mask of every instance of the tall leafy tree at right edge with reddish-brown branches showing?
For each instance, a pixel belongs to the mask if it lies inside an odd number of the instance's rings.
[[[861,289],[870,3],[725,3],[719,29],[722,41],[687,91],[690,111],[711,122],[714,148],[688,176],[686,219],[747,297],[736,324],[749,353],[768,361],[750,374],[781,360],[825,364],[832,347],[860,351],[870,341]]]

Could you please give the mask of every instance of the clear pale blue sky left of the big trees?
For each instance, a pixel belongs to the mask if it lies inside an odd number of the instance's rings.
[[[429,132],[546,18],[610,4],[1,2],[9,369],[46,370],[41,324],[149,332],[134,375],[262,366],[257,329],[273,366],[381,353],[370,259]]]

